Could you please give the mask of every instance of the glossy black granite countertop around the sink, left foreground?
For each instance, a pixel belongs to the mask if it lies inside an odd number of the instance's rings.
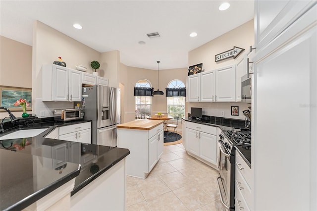
[[[67,123],[55,121],[34,122],[31,127],[18,126],[15,130],[48,128],[35,137],[1,140],[0,145],[0,210],[22,210],[67,181],[76,177],[74,195],[98,176],[130,154],[128,149],[44,138],[55,127],[87,122],[85,120]],[[7,133],[10,131],[8,130]],[[5,133],[5,134],[7,134]],[[23,145],[25,140],[25,146]],[[65,158],[54,158],[54,147],[64,147]],[[33,163],[39,161],[39,165]],[[38,161],[37,161],[38,162]],[[49,165],[48,165],[49,163]],[[62,173],[59,174],[59,170]],[[41,170],[37,170],[37,169]],[[41,175],[34,175],[34,171]],[[42,175],[43,174],[43,175]],[[37,178],[46,182],[38,184]]]

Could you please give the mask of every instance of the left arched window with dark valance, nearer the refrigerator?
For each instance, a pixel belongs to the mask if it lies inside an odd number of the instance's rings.
[[[140,90],[138,88],[144,88],[145,90]],[[136,89],[139,91],[139,94],[136,94]],[[151,83],[146,79],[141,79],[135,84],[135,119],[145,119],[146,116],[151,115],[152,92],[153,88],[151,90]]]

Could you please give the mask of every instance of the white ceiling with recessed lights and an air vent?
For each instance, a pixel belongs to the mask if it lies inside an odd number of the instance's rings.
[[[159,69],[182,68],[189,65],[189,51],[253,19],[253,0],[227,0],[229,9],[220,11],[222,2],[1,0],[0,34],[32,46],[32,24],[39,20],[98,52],[118,50],[125,65],[157,69],[159,60]],[[198,36],[192,38],[194,31]],[[146,36],[153,32],[160,37]]]

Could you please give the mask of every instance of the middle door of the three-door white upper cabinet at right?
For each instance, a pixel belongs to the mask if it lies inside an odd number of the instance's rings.
[[[214,102],[215,72],[207,71],[200,74],[200,102]]]

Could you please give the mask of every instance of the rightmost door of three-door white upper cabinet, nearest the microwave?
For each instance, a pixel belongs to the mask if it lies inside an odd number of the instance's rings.
[[[236,66],[223,67],[216,71],[216,102],[236,101]]]

